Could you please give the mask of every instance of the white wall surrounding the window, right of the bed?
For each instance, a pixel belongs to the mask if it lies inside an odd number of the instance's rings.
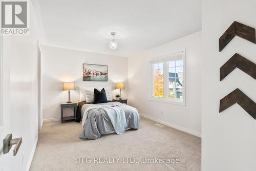
[[[186,48],[186,105],[148,100],[150,59]],[[129,104],[140,113],[182,131],[201,134],[201,32],[143,51],[128,59]],[[161,114],[162,111],[162,114]]]

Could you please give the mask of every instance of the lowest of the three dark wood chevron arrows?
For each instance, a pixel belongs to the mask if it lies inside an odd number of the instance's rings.
[[[234,103],[238,103],[251,117],[256,119],[256,103],[239,89],[232,91],[220,100],[220,113]]]

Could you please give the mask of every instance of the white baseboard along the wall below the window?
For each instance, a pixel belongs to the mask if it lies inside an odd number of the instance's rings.
[[[176,125],[176,124],[173,124],[173,123],[169,123],[169,122],[166,122],[166,121],[162,121],[162,120],[160,120],[160,119],[156,119],[156,118],[154,118],[154,117],[147,116],[147,115],[144,115],[144,114],[141,114],[141,113],[140,113],[140,116],[142,116],[142,117],[144,117],[144,118],[147,118],[147,119],[150,119],[150,120],[153,120],[153,121],[155,121],[155,122],[161,123],[161,124],[163,124],[163,125],[172,127],[172,128],[174,128],[174,129],[176,129],[176,130],[179,130],[179,131],[182,131],[182,132],[191,134],[191,135],[195,135],[195,136],[201,138],[201,133],[199,133],[199,132],[196,132],[196,131],[187,129],[187,128],[185,128],[185,127],[182,127],[182,126],[179,126],[179,125]]]

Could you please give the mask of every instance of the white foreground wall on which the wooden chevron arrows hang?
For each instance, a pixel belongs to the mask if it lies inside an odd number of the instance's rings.
[[[219,81],[220,67],[239,53],[256,63],[256,45],[234,37],[219,52],[219,38],[236,20],[256,28],[256,1],[203,1],[202,170],[256,169],[256,122],[238,104],[219,114],[219,101],[239,88],[256,102],[256,81],[239,69]]]

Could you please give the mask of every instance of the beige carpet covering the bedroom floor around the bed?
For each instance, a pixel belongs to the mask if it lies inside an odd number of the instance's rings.
[[[30,170],[201,170],[201,138],[154,123],[141,117],[139,130],[96,140],[78,138],[81,123],[44,123]],[[155,157],[170,163],[154,163]],[[143,158],[153,163],[143,163]],[[171,159],[180,161],[172,164]]]

